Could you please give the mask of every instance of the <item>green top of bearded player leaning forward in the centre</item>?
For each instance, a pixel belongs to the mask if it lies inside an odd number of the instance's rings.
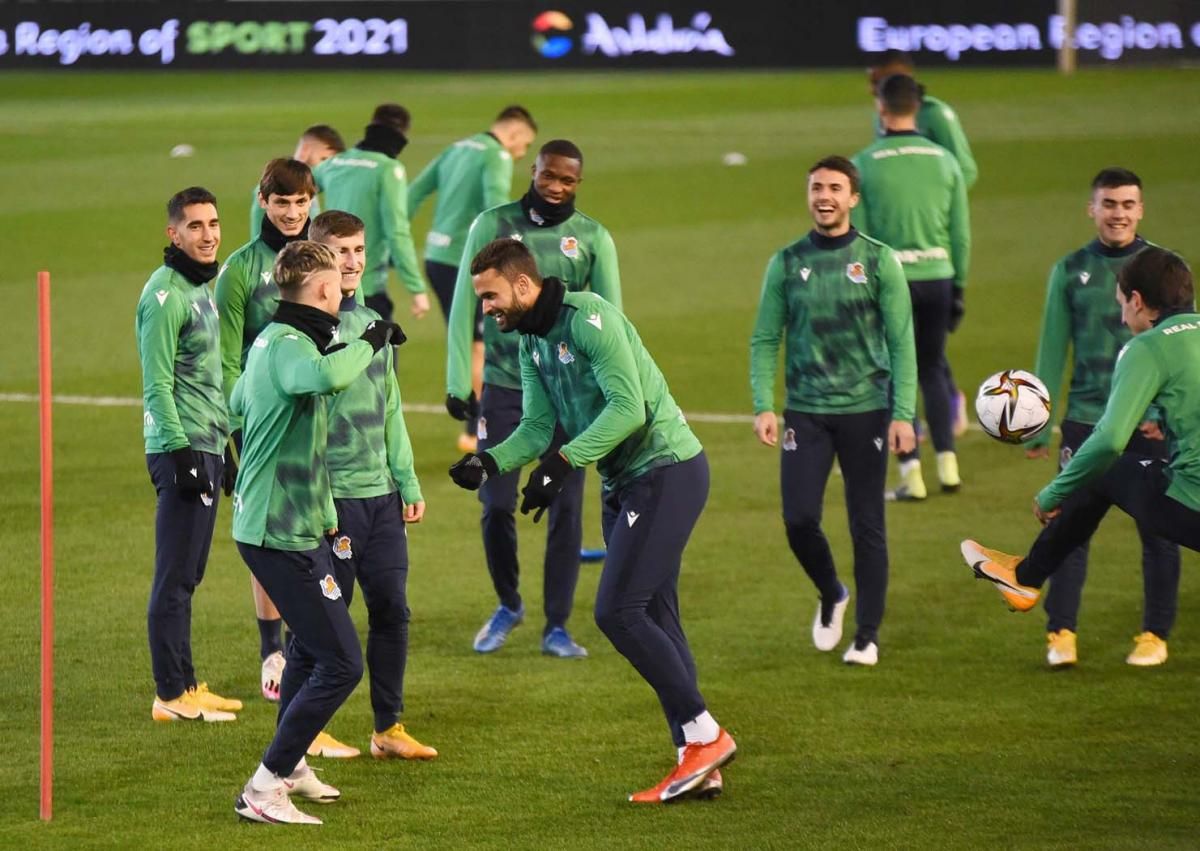
[[[502,473],[541,455],[556,421],[562,455],[595,461],[608,490],[703,449],[634,324],[595,293],[566,293],[545,337],[521,335],[521,424],[487,450]]]

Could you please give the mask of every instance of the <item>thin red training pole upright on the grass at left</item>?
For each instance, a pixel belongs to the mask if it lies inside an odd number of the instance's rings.
[[[40,815],[54,798],[54,421],[50,389],[50,274],[37,272],[38,408],[42,431],[42,754]]]

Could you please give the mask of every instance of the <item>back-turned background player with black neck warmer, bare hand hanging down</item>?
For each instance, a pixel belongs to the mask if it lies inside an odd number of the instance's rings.
[[[421,318],[430,310],[430,295],[416,268],[416,250],[408,224],[408,185],[397,158],[408,144],[412,118],[398,103],[376,107],[362,139],[317,166],[317,186],[330,210],[353,212],[366,223],[371,265],[362,280],[364,304],[391,319],[388,268],[396,268],[400,282],[412,294],[412,312]]]

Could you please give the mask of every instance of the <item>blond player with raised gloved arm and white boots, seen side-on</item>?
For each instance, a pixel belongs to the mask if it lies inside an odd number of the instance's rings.
[[[337,514],[325,465],[325,397],[350,386],[379,349],[403,335],[377,320],[326,352],[342,301],[338,265],[324,245],[284,246],[272,272],[280,305],[251,346],[230,398],[244,435],[233,537],[293,634],[275,737],[234,803],[252,821],[320,823],[288,796],[318,803],[340,797],[317,779],[305,751],[362,677],[359,636],[326,540]]]

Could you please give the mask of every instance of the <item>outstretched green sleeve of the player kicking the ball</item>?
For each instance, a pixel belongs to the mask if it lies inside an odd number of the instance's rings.
[[[1146,408],[1166,379],[1166,370],[1148,346],[1126,344],[1112,372],[1112,391],[1104,415],[1084,445],[1049,485],[1038,493],[1043,511],[1058,508],[1072,493],[1099,478],[1124,451],[1134,429],[1145,419]]]

